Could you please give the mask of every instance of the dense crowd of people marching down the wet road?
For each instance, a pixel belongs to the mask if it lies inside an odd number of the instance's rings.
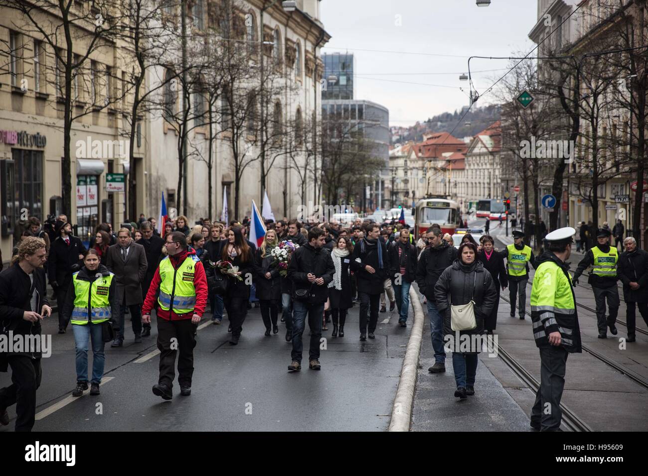
[[[329,324],[331,338],[345,337],[347,313],[358,305],[358,339],[375,339],[378,315],[387,311],[389,300],[390,312],[397,308],[398,324],[406,327],[410,286],[417,282],[430,316],[435,363],[428,370],[435,374],[445,372],[446,336],[493,333],[500,290],[510,288],[511,317],[518,299],[524,319],[529,264],[537,267],[547,259],[533,256],[520,231],[514,232],[514,244],[499,251],[488,234],[477,243],[469,233],[457,249],[439,225],[421,233],[417,242],[404,223],[358,218],[347,225],[267,221],[262,240],[253,243],[248,218],[229,223],[201,219],[190,228],[187,218],[179,216],[166,221],[159,233],[156,220],[141,215],[116,233],[108,223],[98,225],[86,249],[64,215],[47,229],[33,218],[20,233],[12,266],[0,273],[2,330],[40,335],[40,320],[52,313],[49,281],[58,304],[58,332],[65,334],[71,324],[75,337],[73,396],[88,388],[97,395],[105,343],[123,345],[126,315],[134,342],[141,343],[151,335],[154,314],[160,366],[152,391],[169,400],[176,359],[180,393],[191,394],[196,330],[208,304],[213,324],[227,318],[229,345],[238,344],[244,325],[249,332],[245,321],[252,306],[260,308],[266,336],[278,334],[279,322],[284,323],[285,340],[292,344],[291,372],[301,370],[308,322],[308,367],[319,370],[320,339]],[[641,273],[648,276],[645,269]],[[642,277],[629,283],[636,282],[643,286]],[[474,322],[461,327],[460,313],[468,308]],[[642,315],[645,310],[640,305]],[[452,352],[454,395],[461,400],[475,392],[481,345],[470,342]],[[16,429],[29,431],[34,424],[40,357],[36,349],[1,354],[0,370],[11,367],[13,383],[0,389],[0,424],[8,424],[6,407],[16,402]]]

